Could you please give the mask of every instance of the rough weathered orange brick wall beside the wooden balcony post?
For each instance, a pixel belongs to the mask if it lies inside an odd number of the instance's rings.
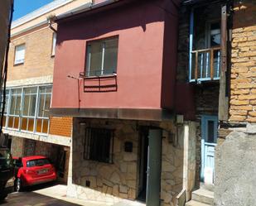
[[[230,122],[256,122],[256,5],[234,3]]]

